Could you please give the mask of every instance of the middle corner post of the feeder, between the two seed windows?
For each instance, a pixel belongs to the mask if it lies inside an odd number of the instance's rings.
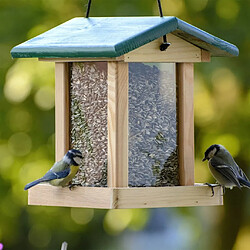
[[[128,64],[108,63],[108,186],[128,186]]]

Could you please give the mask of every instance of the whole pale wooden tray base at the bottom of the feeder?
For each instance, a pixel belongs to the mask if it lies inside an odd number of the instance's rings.
[[[29,190],[28,204],[40,206],[85,208],[156,208],[223,205],[220,186],[105,188],[105,187],[54,187],[39,184]]]

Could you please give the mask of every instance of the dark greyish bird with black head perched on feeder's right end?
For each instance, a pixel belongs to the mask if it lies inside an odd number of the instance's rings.
[[[208,167],[211,174],[218,184],[223,187],[224,192],[225,188],[250,188],[250,182],[246,174],[237,165],[232,155],[224,146],[220,144],[211,145],[205,151],[205,156],[202,161],[206,160],[208,160]],[[214,194],[213,189],[212,193]]]

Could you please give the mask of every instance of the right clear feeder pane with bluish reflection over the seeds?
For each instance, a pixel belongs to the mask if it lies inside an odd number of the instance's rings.
[[[174,63],[129,64],[129,186],[179,185]]]

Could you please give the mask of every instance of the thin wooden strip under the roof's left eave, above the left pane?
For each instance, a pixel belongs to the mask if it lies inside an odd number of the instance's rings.
[[[39,61],[44,62],[107,62],[107,61],[123,61],[124,56],[119,57],[92,57],[92,58],[38,58]]]

